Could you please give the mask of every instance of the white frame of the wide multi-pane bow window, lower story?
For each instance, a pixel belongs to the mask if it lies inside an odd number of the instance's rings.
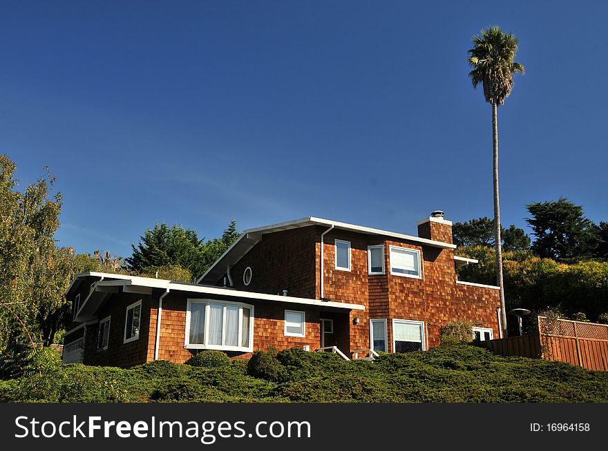
[[[205,305],[205,343],[190,343],[190,314],[192,304]],[[222,343],[226,341],[226,309],[228,305],[235,305],[238,309],[238,338],[237,343],[243,343],[243,308],[249,309],[249,346],[232,345],[211,345],[207,343],[209,339],[209,318],[211,317],[211,304],[221,304],[224,306],[222,312]],[[218,351],[254,352],[254,306],[242,302],[222,301],[221,299],[188,299],[186,308],[186,335],[184,337],[184,348],[187,349],[213,349]]]

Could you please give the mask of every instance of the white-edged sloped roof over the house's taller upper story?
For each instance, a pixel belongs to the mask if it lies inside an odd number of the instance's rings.
[[[339,230],[348,230],[349,232],[359,232],[363,234],[382,235],[384,237],[406,239],[408,241],[414,241],[415,243],[428,245],[433,248],[441,249],[455,249],[456,245],[451,243],[444,243],[442,241],[435,241],[432,239],[414,237],[412,235],[406,235],[403,233],[389,232],[388,230],[375,229],[371,227],[357,226],[355,224],[349,224],[339,221],[332,221],[331,219],[322,219],[316,217],[305,217],[296,219],[295,221],[287,221],[283,223],[273,224],[271,226],[263,226],[258,228],[247,229],[243,234],[234,242],[232,245],[222,254],[222,257],[217,259],[213,265],[202,274],[201,277],[196,281],[197,283],[216,283],[220,277],[226,272],[227,265],[234,265],[239,261],[243,255],[247,254],[251,248],[262,239],[263,234],[282,232],[283,230],[292,230],[295,228],[309,227],[309,226],[325,226],[336,228]]]

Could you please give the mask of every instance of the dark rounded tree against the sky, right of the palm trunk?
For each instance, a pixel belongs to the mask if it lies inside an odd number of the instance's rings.
[[[558,201],[530,203],[526,221],[533,235],[532,250],[539,257],[573,262],[596,256],[600,245],[597,226],[585,217],[581,206],[564,197]]]

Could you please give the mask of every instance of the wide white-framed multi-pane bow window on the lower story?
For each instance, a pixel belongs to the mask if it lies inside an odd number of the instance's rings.
[[[253,305],[214,299],[188,299],[186,348],[251,352],[253,333]]]

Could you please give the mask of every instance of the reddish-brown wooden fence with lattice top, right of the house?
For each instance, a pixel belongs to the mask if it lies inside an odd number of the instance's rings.
[[[562,361],[587,370],[608,371],[608,325],[538,317],[538,332],[482,341],[504,356]]]

